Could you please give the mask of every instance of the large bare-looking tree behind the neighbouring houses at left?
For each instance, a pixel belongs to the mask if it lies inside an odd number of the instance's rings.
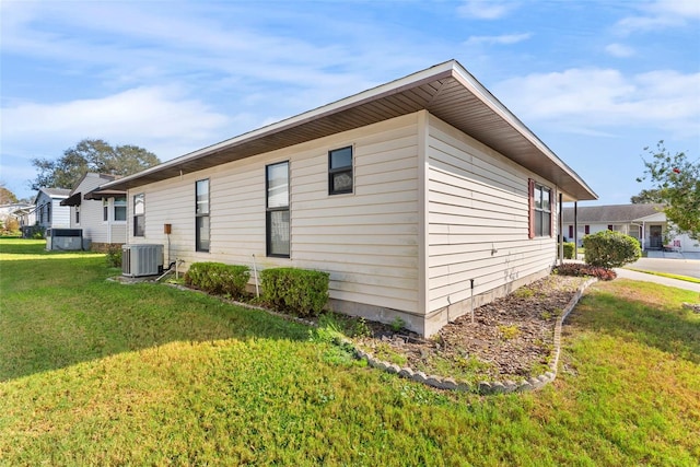
[[[63,156],[56,161],[33,159],[32,165],[38,175],[32,182],[32,189],[72,188],[88,172],[124,176],[160,163],[155,154],[137,145],[113,148],[104,140],[84,139],[63,151]]]

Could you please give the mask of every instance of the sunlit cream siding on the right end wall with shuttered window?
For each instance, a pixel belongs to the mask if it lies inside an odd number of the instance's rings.
[[[470,279],[478,295],[549,268],[556,234],[528,238],[527,180],[552,201],[555,185],[434,116],[428,133],[428,311],[469,299]]]

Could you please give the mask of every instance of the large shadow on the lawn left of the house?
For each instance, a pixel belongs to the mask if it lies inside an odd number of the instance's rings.
[[[0,381],[175,341],[308,339],[305,326],[218,297],[107,281],[102,256],[0,267]]]

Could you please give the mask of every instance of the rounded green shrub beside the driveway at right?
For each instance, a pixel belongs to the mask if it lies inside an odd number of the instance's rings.
[[[586,264],[603,268],[619,268],[642,257],[639,241],[620,232],[586,235],[583,247],[586,249]]]

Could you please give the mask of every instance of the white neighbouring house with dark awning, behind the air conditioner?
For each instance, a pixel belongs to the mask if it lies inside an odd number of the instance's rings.
[[[100,185],[116,178],[89,172],[60,202],[70,209],[70,227],[82,229],[85,249],[105,252],[109,245],[127,243],[126,191],[97,190]]]

